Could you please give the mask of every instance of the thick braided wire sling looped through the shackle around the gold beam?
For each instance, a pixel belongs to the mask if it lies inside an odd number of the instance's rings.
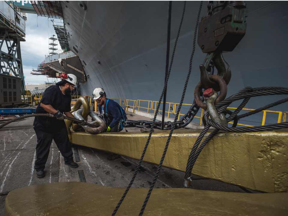
[[[259,113],[263,110],[266,110],[268,108],[274,107],[279,104],[283,104],[288,101],[288,98],[284,98],[280,101],[276,101],[274,103],[268,104],[264,107],[261,107],[259,109],[253,110],[251,112],[242,114],[237,116],[237,114],[240,112],[240,110],[247,104],[249,101],[250,97],[256,97],[256,96],[263,96],[263,95],[283,95],[283,94],[288,94],[288,88],[285,87],[261,87],[261,88],[251,88],[251,87],[246,87],[238,91],[235,95],[230,96],[229,98],[225,99],[224,101],[221,101],[219,104],[215,105],[215,108],[217,109],[217,113],[220,114],[226,108],[233,102],[237,101],[240,99],[244,99],[242,103],[239,105],[239,107],[227,118],[227,121],[232,120],[233,118],[241,119],[247,116],[251,116],[255,113]],[[230,111],[231,112],[231,111]],[[249,127],[249,128],[244,128],[244,127],[239,127],[236,128],[236,124],[233,124],[232,128],[229,127],[223,127],[221,125],[218,125],[209,119],[209,114],[205,113],[203,121],[205,125],[205,128],[202,130],[200,133],[199,137],[197,138],[187,161],[187,166],[186,166],[186,172],[185,172],[185,179],[187,179],[192,172],[193,166],[202,151],[202,149],[205,147],[205,145],[211,140],[212,137],[214,137],[215,134],[219,130],[222,131],[227,131],[227,132],[259,132],[259,131],[271,131],[271,130],[277,130],[277,129],[283,129],[283,128],[288,128],[288,122],[282,122],[282,123],[277,123],[277,124],[270,124],[270,125],[262,125],[262,126],[254,126],[254,127]],[[234,120],[235,123],[235,120]],[[201,143],[199,146],[199,143],[202,141],[204,135],[210,128],[210,126],[216,128],[214,131],[211,132],[211,134],[208,135],[208,137]],[[198,148],[199,146],[199,148]]]

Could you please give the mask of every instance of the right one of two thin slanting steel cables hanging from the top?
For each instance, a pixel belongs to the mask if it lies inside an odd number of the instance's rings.
[[[186,2],[185,2],[186,3]],[[179,113],[180,113],[180,110],[181,110],[181,107],[182,107],[182,104],[183,104],[183,101],[184,101],[184,97],[185,97],[185,93],[186,93],[186,89],[187,89],[187,85],[188,85],[188,81],[189,81],[189,77],[190,77],[190,74],[191,74],[191,71],[192,71],[192,60],[193,60],[193,56],[194,56],[194,53],[195,53],[195,46],[196,46],[196,35],[197,35],[197,29],[198,29],[198,23],[199,23],[199,18],[200,18],[200,13],[201,13],[201,9],[202,9],[202,3],[203,1],[201,1],[200,3],[200,7],[199,7],[199,11],[198,11],[198,16],[197,16],[197,21],[196,21],[196,26],[195,26],[195,30],[194,30],[194,39],[193,39],[193,50],[192,50],[192,53],[191,53],[191,56],[190,56],[190,63],[189,63],[189,71],[188,71],[188,74],[187,74],[187,78],[186,78],[186,82],[185,82],[185,85],[184,85],[184,89],[183,89],[183,93],[182,93],[182,98],[181,98],[181,101],[180,101],[180,104],[179,104],[179,107],[178,107],[178,110],[177,110],[177,114],[175,116],[175,119],[174,119],[174,122],[173,122],[173,125],[172,125],[172,128],[171,128],[171,131],[170,131],[170,134],[169,134],[169,137],[167,139],[167,142],[166,142],[166,146],[164,148],[164,152],[163,152],[163,155],[162,155],[162,158],[160,160],[160,163],[159,163],[159,166],[158,166],[158,169],[157,169],[157,172],[154,176],[154,179],[153,179],[153,182],[150,186],[150,189],[148,191],[148,194],[146,196],[146,199],[142,205],[142,208],[141,208],[141,211],[139,213],[139,216],[142,216],[143,213],[144,213],[144,210],[145,210],[145,207],[147,205],[147,202],[150,198],[150,195],[152,193],[152,190],[155,186],[155,183],[157,181],[157,178],[158,178],[158,175],[160,173],[160,170],[161,170],[161,167],[162,167],[162,164],[163,164],[163,161],[164,161],[164,158],[165,158],[165,155],[166,155],[166,152],[167,152],[167,149],[168,149],[168,146],[169,146],[169,143],[170,143],[170,139],[171,139],[171,136],[173,134],[173,131],[174,131],[174,128],[177,124],[177,120],[178,120],[178,116],[179,116]],[[185,5],[184,5],[184,10],[185,10]],[[184,11],[183,11],[183,15],[182,15],[182,19],[181,19],[181,23],[182,23],[182,20],[183,20],[183,16],[184,16]],[[179,32],[180,32],[180,28],[179,28]],[[179,33],[178,33],[179,34]]]

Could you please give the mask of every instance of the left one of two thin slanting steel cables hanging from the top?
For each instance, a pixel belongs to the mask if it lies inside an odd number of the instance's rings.
[[[202,2],[202,1],[201,1]],[[201,3],[202,5],[202,3]],[[180,30],[181,30],[181,26],[182,26],[182,22],[183,22],[183,18],[184,18],[184,13],[185,13],[185,7],[186,7],[186,1],[184,1],[184,7],[183,7],[183,13],[182,13],[182,18],[181,18],[181,21],[180,21],[180,25],[179,25],[179,29],[178,29],[178,34],[177,34],[177,37],[176,37],[176,40],[175,40],[175,44],[174,44],[174,48],[173,48],[173,53],[172,53],[172,57],[171,57],[171,61],[170,61],[170,67],[169,67],[169,70],[168,70],[168,73],[167,73],[167,79],[165,80],[165,84],[164,84],[164,87],[163,87],[163,90],[162,90],[162,94],[161,94],[161,97],[159,99],[159,103],[157,105],[157,109],[155,111],[155,115],[154,115],[154,119],[153,119],[153,122],[152,122],[152,125],[151,125],[151,129],[150,129],[150,133],[149,133],[149,136],[148,136],[148,139],[147,139],[147,142],[145,144],[145,147],[144,147],[144,150],[143,150],[143,153],[141,155],[141,158],[138,162],[138,165],[136,167],[136,170],[134,172],[134,175],[128,185],[128,187],[126,188],[125,192],[123,193],[120,201],[118,202],[116,208],[114,209],[113,213],[112,213],[112,216],[114,216],[116,214],[116,212],[118,211],[121,203],[123,202],[125,196],[127,195],[129,189],[131,188],[133,182],[134,182],[134,179],[136,178],[136,175],[140,169],[140,166],[141,166],[141,163],[143,161],[143,158],[144,158],[144,155],[146,153],[146,150],[148,148],[148,145],[149,145],[149,142],[150,142],[150,139],[151,139],[151,136],[152,136],[152,132],[153,132],[153,128],[154,128],[154,125],[155,125],[155,121],[156,121],[156,117],[157,117],[157,114],[158,114],[158,111],[160,109],[160,105],[161,105],[161,101],[162,101],[162,98],[164,96],[164,92],[165,90],[167,89],[167,83],[168,83],[168,80],[169,80],[169,76],[170,76],[170,72],[171,72],[171,68],[172,68],[172,64],[173,64],[173,59],[174,59],[174,55],[175,55],[175,50],[176,50],[176,46],[177,46],[177,42],[178,42],[178,38],[179,38],[179,35],[180,35]]]

